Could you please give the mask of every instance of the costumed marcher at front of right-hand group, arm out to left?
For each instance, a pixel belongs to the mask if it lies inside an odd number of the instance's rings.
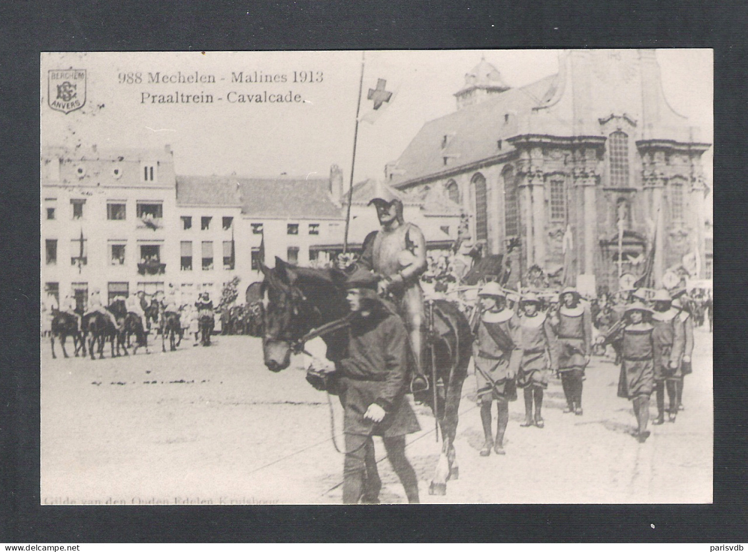
[[[650,435],[649,398],[654,387],[654,327],[649,322],[652,310],[640,301],[626,307],[624,324],[617,331],[599,338],[601,343],[621,343],[622,363],[618,396],[634,402],[637,417],[636,435],[640,443]]]

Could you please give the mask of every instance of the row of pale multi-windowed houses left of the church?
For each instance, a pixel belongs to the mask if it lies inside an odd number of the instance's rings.
[[[343,173],[327,178],[181,176],[174,152],[47,148],[41,156],[41,283],[43,297],[66,295],[85,308],[99,289],[109,301],[142,290],[183,301],[197,292],[217,299],[224,284],[240,289],[262,278],[275,257],[324,266],[343,251]],[[367,206],[373,181],[355,186],[348,246],[358,251],[378,227]],[[461,211],[435,198],[405,205],[430,248],[456,239]],[[240,297],[243,293],[240,293]]]

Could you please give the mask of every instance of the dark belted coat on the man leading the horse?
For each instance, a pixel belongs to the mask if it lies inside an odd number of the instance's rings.
[[[399,316],[381,304],[353,319],[346,357],[337,361],[336,387],[345,411],[343,431],[396,437],[420,431],[408,387],[408,334]],[[381,423],[364,418],[373,403],[387,413]]]

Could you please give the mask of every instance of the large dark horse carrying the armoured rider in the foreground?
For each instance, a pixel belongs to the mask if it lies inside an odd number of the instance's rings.
[[[272,372],[280,372],[289,366],[294,343],[304,334],[349,313],[344,290],[346,274],[338,269],[299,268],[278,257],[275,269],[266,266],[262,269],[265,275],[262,289],[265,307],[263,355],[266,367]],[[431,334],[432,347],[423,358],[431,387],[415,399],[425,402],[435,411],[441,428],[441,456],[429,493],[446,494],[447,479],[458,476],[453,443],[462,384],[470,362],[472,334],[468,320],[456,305],[449,301],[433,301],[433,311],[436,331]],[[328,351],[340,350],[346,334],[337,332],[322,339]],[[437,390],[436,405],[434,389]]]

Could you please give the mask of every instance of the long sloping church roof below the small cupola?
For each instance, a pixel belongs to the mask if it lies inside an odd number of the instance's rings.
[[[556,79],[548,76],[429,121],[397,160],[390,184],[403,185],[508,151],[507,145],[499,150],[497,141],[527,128],[533,107],[551,99]]]

